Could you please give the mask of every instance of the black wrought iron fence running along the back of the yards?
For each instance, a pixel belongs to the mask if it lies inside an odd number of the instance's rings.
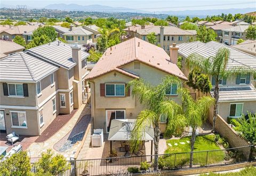
[[[256,161],[256,148],[245,146],[221,150],[194,151],[191,167],[190,156],[190,152],[158,155],[159,170],[157,172]],[[155,157],[156,155],[147,155],[68,161],[67,164],[70,165],[70,169],[62,175],[123,174],[127,173],[131,167],[140,169],[141,162],[147,162],[147,170],[154,171]],[[36,172],[35,164],[32,163],[32,166],[32,171]],[[140,172],[146,171],[140,170]]]

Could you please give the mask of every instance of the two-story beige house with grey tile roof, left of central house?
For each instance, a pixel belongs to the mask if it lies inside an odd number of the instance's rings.
[[[0,60],[0,130],[41,135],[82,105],[88,53],[59,41]]]

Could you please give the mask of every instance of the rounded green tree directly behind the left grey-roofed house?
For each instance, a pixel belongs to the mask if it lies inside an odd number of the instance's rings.
[[[33,37],[41,37],[42,35],[46,35],[50,38],[50,42],[53,42],[57,38],[57,33],[55,32],[55,29],[52,26],[44,26],[39,27],[33,32]]]

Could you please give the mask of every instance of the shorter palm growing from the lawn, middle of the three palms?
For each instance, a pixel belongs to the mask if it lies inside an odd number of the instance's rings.
[[[190,161],[189,167],[193,165],[193,151],[196,141],[196,129],[205,122],[209,108],[214,104],[214,99],[204,96],[194,100],[188,89],[178,91],[182,97],[183,116],[186,117],[187,125],[191,126],[192,134],[190,141]]]

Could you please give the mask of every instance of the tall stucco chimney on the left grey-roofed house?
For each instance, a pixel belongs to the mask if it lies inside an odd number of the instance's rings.
[[[71,45],[72,49],[72,59],[76,62],[76,66],[74,67],[74,78],[77,81],[82,80],[82,58],[81,58],[81,46],[78,43]]]

